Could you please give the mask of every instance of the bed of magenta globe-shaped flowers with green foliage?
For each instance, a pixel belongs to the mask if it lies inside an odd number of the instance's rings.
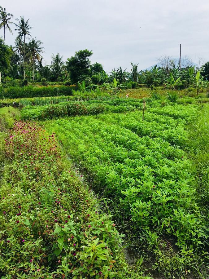
[[[121,236],[54,133],[16,121],[0,189],[1,278],[113,278]]]

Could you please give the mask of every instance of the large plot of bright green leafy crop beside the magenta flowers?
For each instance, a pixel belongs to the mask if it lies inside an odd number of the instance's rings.
[[[143,122],[138,111],[46,122],[95,189],[123,212],[119,219],[140,240],[140,250],[155,254],[152,268],[166,278],[186,276],[188,270],[201,274],[208,259],[207,218],[198,205],[195,169],[181,149],[189,141],[185,127],[198,109],[150,108]]]

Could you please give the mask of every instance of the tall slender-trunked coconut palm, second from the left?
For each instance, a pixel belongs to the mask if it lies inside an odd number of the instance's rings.
[[[16,18],[16,20],[18,21],[18,24],[14,23],[15,26],[17,27],[17,29],[15,29],[15,31],[19,31],[18,32],[18,36],[16,39],[22,38],[24,37],[24,50],[23,50],[23,73],[24,73],[24,79],[25,79],[25,37],[27,35],[30,35],[30,29],[32,29],[32,27],[28,24],[28,20],[24,20],[24,16],[20,16],[20,20],[18,18]]]

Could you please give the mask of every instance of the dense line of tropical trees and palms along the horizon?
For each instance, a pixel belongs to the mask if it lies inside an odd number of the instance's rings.
[[[208,87],[205,81],[209,77],[209,62],[201,69],[186,63],[180,71],[180,67],[166,55],[159,59],[159,67],[155,65],[149,70],[140,71],[138,64],[131,63],[130,73],[119,67],[107,74],[100,63],[91,64],[90,57],[93,52],[87,49],[76,51],[66,62],[59,53],[53,54],[51,64],[44,65],[44,47],[40,40],[32,37],[29,19],[25,20],[24,16],[20,16],[15,22],[11,22],[12,18],[13,15],[0,6],[0,29],[4,30],[4,38],[0,38],[0,81],[2,76],[3,83],[27,85],[28,82],[42,82],[44,85],[51,81],[70,85],[84,81],[85,86],[95,84],[102,88],[104,84],[111,84],[115,80],[116,86],[125,84],[126,88],[134,88],[137,84],[146,84],[149,87],[169,86],[172,89],[190,86],[198,88],[203,85]],[[12,25],[15,26],[18,36],[14,46],[7,46],[5,34],[7,30],[12,33]]]

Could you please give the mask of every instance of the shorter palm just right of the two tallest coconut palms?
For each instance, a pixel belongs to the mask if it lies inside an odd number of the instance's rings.
[[[41,52],[43,52],[44,47],[40,47],[42,42],[37,40],[36,37],[33,38],[32,40],[29,39],[30,42],[28,43],[28,53],[26,54],[27,57],[33,60],[33,81],[34,81],[34,65],[35,65],[35,60],[40,60],[41,59]]]

